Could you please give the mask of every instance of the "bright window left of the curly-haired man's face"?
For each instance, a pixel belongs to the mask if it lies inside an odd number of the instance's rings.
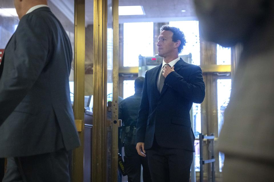
[[[153,56],[153,22],[124,23],[124,66],[139,66],[139,55]]]

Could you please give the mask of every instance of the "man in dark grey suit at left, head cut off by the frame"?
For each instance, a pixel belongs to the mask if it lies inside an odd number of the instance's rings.
[[[0,66],[3,181],[70,181],[79,146],[70,104],[70,40],[47,0],[14,0],[20,22]]]

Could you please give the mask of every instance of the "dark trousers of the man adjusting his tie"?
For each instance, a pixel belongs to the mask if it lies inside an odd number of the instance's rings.
[[[146,154],[153,182],[189,182],[192,151],[163,148],[154,139]]]

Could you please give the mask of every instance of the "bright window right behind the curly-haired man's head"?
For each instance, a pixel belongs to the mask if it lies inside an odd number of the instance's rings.
[[[179,55],[192,54],[192,64],[200,65],[200,34],[198,21],[173,21],[170,26],[180,28],[186,38],[186,46]]]

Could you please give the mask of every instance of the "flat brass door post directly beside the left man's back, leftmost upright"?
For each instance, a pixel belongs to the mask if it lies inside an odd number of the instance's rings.
[[[84,77],[85,0],[74,0],[74,101],[75,124],[81,146],[72,152],[71,181],[82,182],[84,174]]]

